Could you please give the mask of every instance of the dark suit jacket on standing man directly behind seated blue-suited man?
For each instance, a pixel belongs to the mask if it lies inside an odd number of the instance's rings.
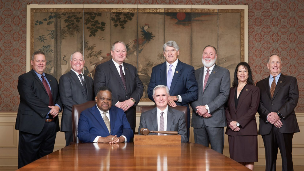
[[[109,87],[112,90],[112,105],[114,106],[118,101],[122,102],[130,99],[136,100],[136,104],[143,96],[143,83],[140,81],[137,70],[133,65],[123,63],[126,76],[126,87],[123,86],[123,81],[112,60],[99,64],[96,67],[94,76],[94,87],[96,89],[101,86]],[[130,122],[131,128],[136,127],[136,104],[126,111],[126,116]]]

